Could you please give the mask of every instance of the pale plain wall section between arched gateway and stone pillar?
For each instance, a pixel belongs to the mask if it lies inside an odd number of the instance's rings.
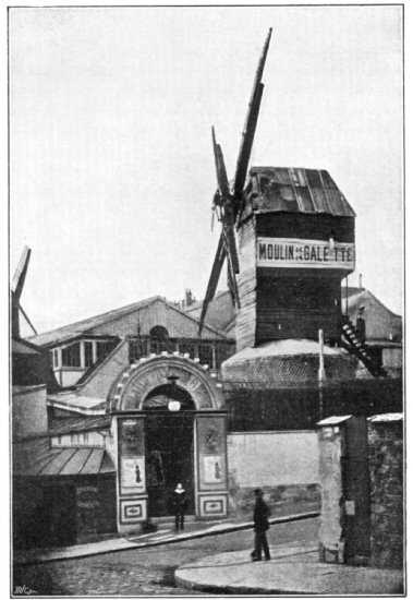
[[[319,483],[315,431],[229,433],[227,445],[240,488]]]

